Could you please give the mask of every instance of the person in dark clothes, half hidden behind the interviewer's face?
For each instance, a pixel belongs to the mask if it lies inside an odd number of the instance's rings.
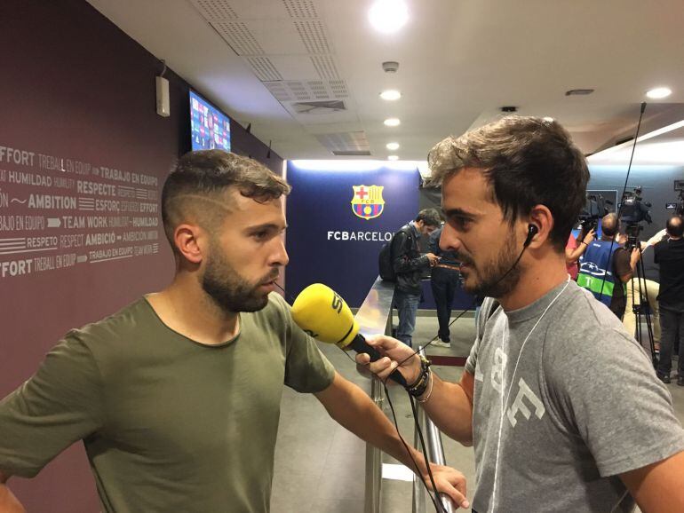
[[[434,303],[437,305],[437,321],[440,328],[437,333],[438,340],[433,345],[451,347],[449,332],[449,320],[451,319],[451,304],[454,303],[458,280],[458,262],[456,253],[445,251],[440,248],[440,236],[442,228],[438,228],[430,235],[430,252],[438,256],[440,260],[433,265],[430,272],[430,286],[433,289]]]

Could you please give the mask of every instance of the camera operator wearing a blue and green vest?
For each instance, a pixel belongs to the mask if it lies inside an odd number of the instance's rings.
[[[627,281],[632,280],[640,258],[640,250],[632,253],[616,240],[617,216],[608,214],[601,219],[600,241],[593,241],[580,259],[577,285],[587,288],[601,303],[606,304],[617,318],[622,320],[626,298]]]

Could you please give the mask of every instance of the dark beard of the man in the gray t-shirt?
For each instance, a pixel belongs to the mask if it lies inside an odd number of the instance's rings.
[[[463,288],[465,292],[473,296],[489,296],[500,298],[513,291],[521,279],[521,267],[515,261],[519,254],[517,238],[509,238],[505,247],[497,252],[497,256],[487,262],[476,266],[473,259],[467,256],[458,255],[458,259],[464,264],[468,264],[470,269],[467,271],[475,282],[468,284],[464,280]]]

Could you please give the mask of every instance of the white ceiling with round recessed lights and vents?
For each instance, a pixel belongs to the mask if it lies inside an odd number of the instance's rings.
[[[592,154],[662,85],[672,96],[649,100],[642,129],[684,119],[682,0],[405,0],[392,35],[370,26],[373,0],[88,1],[287,159],[424,160],[503,106],[555,118]],[[580,88],[595,91],[565,94]]]

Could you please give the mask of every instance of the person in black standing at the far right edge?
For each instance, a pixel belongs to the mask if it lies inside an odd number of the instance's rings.
[[[657,375],[663,383],[670,383],[672,346],[679,331],[684,335],[684,222],[680,216],[667,221],[667,236],[654,248],[656,264],[660,264],[660,361]],[[677,384],[684,386],[684,359],[678,365]]]

